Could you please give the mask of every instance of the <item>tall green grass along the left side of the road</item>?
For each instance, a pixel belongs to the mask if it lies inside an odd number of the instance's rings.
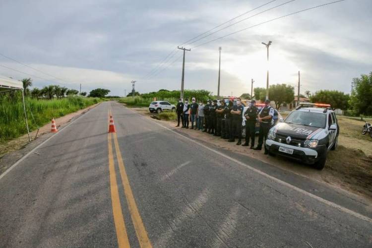
[[[99,98],[67,97],[53,100],[25,99],[27,122],[30,130],[37,129],[58,118],[101,101]],[[33,114],[35,121],[32,119]],[[0,142],[16,138],[27,133],[23,104],[21,99],[0,101]]]

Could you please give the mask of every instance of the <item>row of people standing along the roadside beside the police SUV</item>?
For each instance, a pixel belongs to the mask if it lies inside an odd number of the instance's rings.
[[[242,144],[244,116],[247,120],[246,138],[245,143],[242,145],[249,146],[250,141],[250,149],[254,150],[262,149],[263,140],[267,138],[271,120],[274,116],[274,109],[270,107],[269,100],[265,101],[265,106],[260,111],[255,106],[255,101],[252,100],[250,106],[244,112],[244,106],[240,98],[236,99],[236,104],[234,104],[234,98],[230,98],[226,102],[225,100],[220,100],[220,105],[217,104],[217,100],[208,100],[207,104],[204,105],[201,100],[197,103],[194,97],[191,99],[191,103],[188,102],[187,98],[185,103],[180,98],[176,112],[177,126],[180,126],[181,121],[183,128],[202,130],[214,136],[220,136],[229,142],[235,142],[235,138],[238,137],[237,145]],[[257,120],[259,122],[259,137],[258,144],[254,147]],[[268,151],[265,147],[265,154],[267,153]]]

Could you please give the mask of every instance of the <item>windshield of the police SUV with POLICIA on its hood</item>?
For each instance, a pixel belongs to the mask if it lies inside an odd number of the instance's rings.
[[[285,120],[285,123],[325,127],[326,115],[322,113],[294,111]]]

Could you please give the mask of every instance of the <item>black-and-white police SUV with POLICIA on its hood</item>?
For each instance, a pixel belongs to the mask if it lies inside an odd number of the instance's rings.
[[[266,148],[278,154],[324,168],[327,153],[337,147],[339,126],[329,104],[301,104],[269,130]]]

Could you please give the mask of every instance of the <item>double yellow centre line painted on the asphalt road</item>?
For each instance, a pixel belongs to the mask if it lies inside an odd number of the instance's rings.
[[[138,243],[141,248],[151,248],[151,242],[148,238],[145,226],[143,225],[141,216],[139,214],[137,205],[134,200],[133,192],[130,188],[129,180],[126,175],[124,162],[122,153],[120,152],[118,136],[116,133],[108,134],[108,142],[109,142],[109,168],[110,168],[110,186],[111,186],[111,199],[113,205],[113,214],[114,214],[114,223],[116,228],[116,234],[118,237],[118,244],[119,248],[130,247],[128,235],[125,229],[123,211],[120,204],[120,197],[119,197],[119,190],[118,184],[116,180],[116,172],[115,172],[115,163],[114,163],[114,155],[113,155],[113,148],[112,148],[112,136],[114,138],[115,144],[115,151],[116,157],[118,160],[120,176],[122,178],[122,184],[124,187],[124,194],[128,204],[128,209],[130,212],[130,216],[133,222],[133,226],[135,229],[135,233],[138,238]]]

